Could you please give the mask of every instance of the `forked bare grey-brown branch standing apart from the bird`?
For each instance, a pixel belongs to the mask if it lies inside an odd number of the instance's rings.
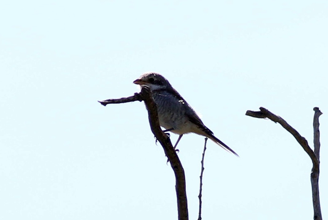
[[[269,110],[260,107],[260,111],[246,111],[246,115],[255,118],[269,118],[270,120],[279,123],[284,129],[291,133],[297,142],[302,146],[304,151],[309,155],[312,160],[312,170],[311,170],[311,186],[312,186],[312,201],[314,209],[314,219],[322,220],[320,200],[319,200],[319,150],[320,150],[320,132],[319,132],[319,116],[322,114],[318,107],[313,109],[315,111],[313,119],[313,129],[314,129],[314,150],[312,150],[307,142],[307,140],[302,137],[292,126],[290,126],[283,118],[273,114]]]

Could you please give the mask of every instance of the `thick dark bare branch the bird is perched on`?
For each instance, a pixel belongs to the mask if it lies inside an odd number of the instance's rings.
[[[147,86],[142,86],[140,93],[134,93],[133,96],[121,99],[107,99],[104,101],[98,101],[102,105],[112,103],[126,103],[133,101],[144,101],[146,109],[148,111],[148,119],[150,128],[155,135],[156,139],[163,147],[164,153],[170,161],[171,167],[175,175],[175,191],[177,198],[178,219],[188,220],[188,205],[186,195],[186,180],[181,162],[172,146],[171,140],[160,128],[157,114],[157,106],[154,102],[150,89]]]

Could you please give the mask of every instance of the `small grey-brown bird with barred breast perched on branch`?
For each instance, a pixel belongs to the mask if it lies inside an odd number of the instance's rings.
[[[165,128],[163,132],[172,132],[179,135],[174,144],[174,149],[183,134],[195,133],[208,137],[224,150],[239,157],[235,151],[214,136],[213,132],[204,125],[195,110],[161,74],[145,72],[138,79],[134,80],[133,83],[140,87],[145,85],[150,88],[152,98],[157,105],[159,124]]]

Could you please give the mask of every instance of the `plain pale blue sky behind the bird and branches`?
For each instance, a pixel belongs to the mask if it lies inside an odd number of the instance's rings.
[[[203,219],[312,219],[313,145],[328,207],[327,1],[7,1],[0,34],[0,219],[177,219],[174,174],[132,95],[164,75],[240,158],[208,142]],[[177,135],[171,135],[175,141]],[[183,136],[190,219],[204,139]]]

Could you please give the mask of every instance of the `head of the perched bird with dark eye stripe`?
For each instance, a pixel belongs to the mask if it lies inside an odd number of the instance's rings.
[[[150,90],[172,88],[167,79],[159,73],[154,72],[146,72],[142,74],[139,79],[134,80],[133,83],[140,86],[146,85]]]

